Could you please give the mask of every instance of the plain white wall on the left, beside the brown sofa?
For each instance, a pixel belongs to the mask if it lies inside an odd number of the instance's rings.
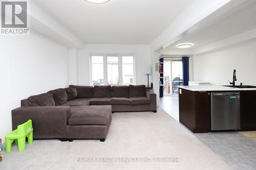
[[[12,130],[11,110],[30,95],[66,87],[68,48],[40,34],[0,38],[0,138]]]

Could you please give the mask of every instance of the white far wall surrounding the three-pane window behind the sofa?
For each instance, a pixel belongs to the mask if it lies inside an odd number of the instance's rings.
[[[90,85],[90,55],[91,54],[135,54],[136,84],[147,85],[144,74],[145,64],[151,64],[150,45],[130,44],[85,44],[83,50],[78,50],[78,84]],[[151,82],[151,76],[150,76]]]

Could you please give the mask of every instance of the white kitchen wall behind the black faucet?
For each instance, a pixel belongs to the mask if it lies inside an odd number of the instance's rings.
[[[194,56],[195,81],[209,81],[215,85],[232,82],[237,70],[237,85],[256,85],[256,40],[240,43],[215,53]]]

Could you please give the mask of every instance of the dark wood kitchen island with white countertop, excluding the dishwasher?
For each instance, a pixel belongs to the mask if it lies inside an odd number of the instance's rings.
[[[240,92],[241,131],[256,130],[256,88],[179,86],[179,121],[193,133],[211,131],[211,92]]]

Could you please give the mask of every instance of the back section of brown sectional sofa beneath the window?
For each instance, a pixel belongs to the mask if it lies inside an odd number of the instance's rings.
[[[68,101],[64,106],[111,105],[112,112],[153,111],[156,112],[156,94],[137,86],[74,86],[77,99]]]

